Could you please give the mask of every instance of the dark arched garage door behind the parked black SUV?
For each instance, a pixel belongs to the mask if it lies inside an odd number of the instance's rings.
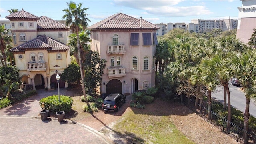
[[[107,83],[106,94],[120,93],[122,94],[122,83],[120,80],[113,79]]]

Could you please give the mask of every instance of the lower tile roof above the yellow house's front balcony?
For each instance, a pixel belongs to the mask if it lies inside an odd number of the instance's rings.
[[[68,50],[69,47],[46,35],[38,36],[24,44],[10,49],[11,52],[25,51],[29,48],[48,48],[48,50]]]

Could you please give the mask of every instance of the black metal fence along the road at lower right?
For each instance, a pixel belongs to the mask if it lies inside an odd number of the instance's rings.
[[[228,120],[224,117],[219,116],[215,112],[211,111],[211,117],[208,118],[208,108],[205,108],[204,106],[201,106],[200,104],[197,104],[198,106],[195,106],[195,101],[190,99],[190,103],[185,104],[188,108],[191,110],[196,110],[196,108],[200,108],[199,111],[196,111],[198,115],[200,115],[202,118],[222,130],[222,132],[228,134],[230,137],[234,138],[236,141],[243,143],[243,135],[244,130],[243,127],[237,126],[236,124],[232,122],[228,122]],[[251,134],[249,132],[247,133],[247,139],[248,144],[256,144],[256,134]]]

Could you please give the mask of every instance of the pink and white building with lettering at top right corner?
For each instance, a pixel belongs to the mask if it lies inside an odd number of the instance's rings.
[[[256,0],[240,0],[242,6],[238,7],[238,27],[236,38],[247,43],[256,28]]]

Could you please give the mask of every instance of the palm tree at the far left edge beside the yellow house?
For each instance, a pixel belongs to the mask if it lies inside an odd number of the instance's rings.
[[[6,62],[7,47],[6,47],[6,45],[10,44],[10,42],[12,42],[12,37],[8,36],[8,34],[10,32],[11,32],[10,29],[6,29],[6,28],[4,28],[4,26],[0,26],[0,50],[1,50],[0,59],[1,59],[3,66],[7,66],[7,62]]]

